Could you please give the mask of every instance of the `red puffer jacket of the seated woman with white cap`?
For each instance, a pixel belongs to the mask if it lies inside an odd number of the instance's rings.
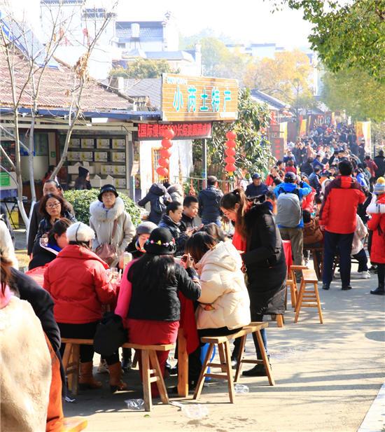
[[[108,268],[99,256],[77,244],[59,252],[45,270],[43,285],[55,302],[57,323],[84,324],[102,319],[102,305],[116,300],[106,274]]]

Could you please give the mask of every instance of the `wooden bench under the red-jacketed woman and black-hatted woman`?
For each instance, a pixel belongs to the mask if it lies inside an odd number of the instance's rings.
[[[63,356],[63,365],[66,375],[73,375],[71,380],[71,393],[78,394],[79,390],[79,363],[80,363],[80,345],[93,345],[92,339],[69,339],[62,337],[62,343],[66,344]],[[169,396],[163,380],[162,371],[158,361],[158,356],[155,351],[169,351],[175,347],[175,344],[163,345],[139,345],[126,343],[122,345],[123,348],[141,349],[141,364],[143,376],[143,393],[144,393],[144,409],[146,411],[152,410],[151,398],[151,383],[156,382],[158,385],[160,398],[162,403],[169,404]],[[71,358],[72,357],[72,358]],[[153,369],[150,368],[150,361]],[[151,374],[154,376],[151,377]],[[70,384],[70,382],[69,382]]]

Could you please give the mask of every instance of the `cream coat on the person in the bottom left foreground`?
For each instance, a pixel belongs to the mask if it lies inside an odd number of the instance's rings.
[[[1,431],[45,431],[51,358],[31,305],[12,296],[0,309]]]

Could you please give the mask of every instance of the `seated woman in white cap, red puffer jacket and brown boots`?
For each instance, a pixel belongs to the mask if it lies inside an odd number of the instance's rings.
[[[69,245],[48,265],[44,285],[52,296],[53,314],[62,337],[94,339],[97,325],[102,319],[102,305],[116,300],[106,269],[109,265],[90,250],[94,231],[84,223],[71,225],[66,231]],[[64,352],[62,345],[61,354]],[[102,386],[92,375],[94,347],[80,345],[80,389]],[[110,388],[114,393],[126,389],[122,381],[122,367],[118,351],[106,357],[110,372]]]

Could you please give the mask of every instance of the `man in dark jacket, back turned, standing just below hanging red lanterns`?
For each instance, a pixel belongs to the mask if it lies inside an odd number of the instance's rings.
[[[222,190],[216,187],[217,179],[215,176],[207,177],[207,188],[200,191],[198,195],[199,210],[198,215],[202,218],[202,223],[216,223],[221,227],[221,208],[219,202],[223,197]]]

